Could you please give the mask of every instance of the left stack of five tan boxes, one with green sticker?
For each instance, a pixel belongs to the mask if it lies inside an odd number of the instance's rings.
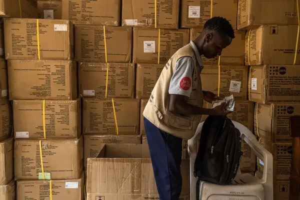
[[[16,197],[81,200],[83,139],[73,24],[5,18],[4,40]]]

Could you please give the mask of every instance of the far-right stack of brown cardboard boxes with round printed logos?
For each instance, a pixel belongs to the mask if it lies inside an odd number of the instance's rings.
[[[259,9],[257,9],[259,7]],[[296,0],[240,0],[238,28],[247,29],[245,63],[254,133],[273,154],[274,199],[289,199],[289,117],[300,113],[300,51]],[[256,175],[264,162],[257,158]]]

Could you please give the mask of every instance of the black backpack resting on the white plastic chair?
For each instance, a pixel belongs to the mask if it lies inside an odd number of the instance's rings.
[[[238,170],[241,152],[240,132],[225,116],[208,116],[201,131],[194,164],[199,180],[225,185]]]

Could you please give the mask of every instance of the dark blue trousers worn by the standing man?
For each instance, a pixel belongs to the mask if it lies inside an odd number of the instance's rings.
[[[178,200],[182,186],[182,139],[160,130],[146,118],[144,127],[159,199]]]

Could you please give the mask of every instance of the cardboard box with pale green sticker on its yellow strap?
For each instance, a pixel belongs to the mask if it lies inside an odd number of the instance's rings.
[[[80,178],[83,170],[83,147],[80,139],[41,140],[45,176],[51,179]],[[15,180],[42,179],[38,139],[14,140]]]

